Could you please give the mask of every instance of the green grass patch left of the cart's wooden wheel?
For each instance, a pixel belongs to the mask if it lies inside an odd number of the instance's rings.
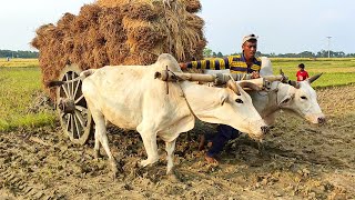
[[[54,123],[53,111],[29,110],[42,90],[40,80],[38,67],[0,68],[0,131]]]

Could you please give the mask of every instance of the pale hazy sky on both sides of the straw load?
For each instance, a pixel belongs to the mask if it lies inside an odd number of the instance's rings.
[[[36,51],[36,29],[78,14],[94,0],[0,0],[0,49]],[[354,0],[200,0],[207,48],[241,51],[243,36],[258,36],[262,53],[321,50],[355,53]],[[327,37],[332,37],[328,39]]]

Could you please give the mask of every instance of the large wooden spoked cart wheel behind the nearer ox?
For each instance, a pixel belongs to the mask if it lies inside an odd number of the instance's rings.
[[[79,77],[81,69],[67,66],[59,80],[69,81]],[[84,144],[92,131],[93,121],[87,101],[81,92],[82,81],[78,80],[62,84],[57,89],[57,108],[61,127],[74,143]]]

